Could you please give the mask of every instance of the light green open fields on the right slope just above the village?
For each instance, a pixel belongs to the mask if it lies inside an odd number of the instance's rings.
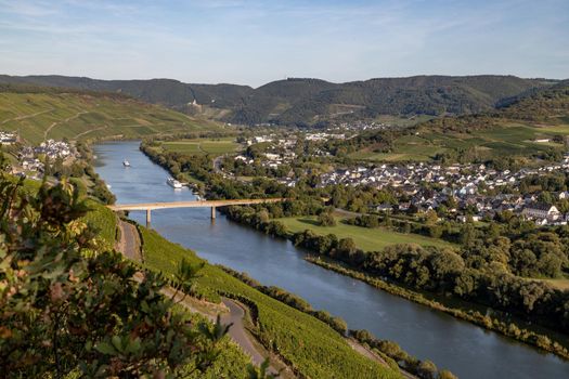
[[[564,149],[562,144],[534,142],[535,139],[552,139],[556,134],[569,135],[569,125],[541,127],[504,122],[492,129],[471,133],[424,131],[416,135],[397,139],[389,153],[376,153],[371,146],[352,153],[350,157],[371,161],[427,161],[439,153],[456,148],[471,148],[487,158],[507,155],[527,156],[551,147]]]

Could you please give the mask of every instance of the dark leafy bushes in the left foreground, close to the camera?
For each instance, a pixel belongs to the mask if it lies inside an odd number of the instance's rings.
[[[2,174],[0,201],[1,377],[191,376],[216,360],[207,326],[174,312],[156,275],[134,282],[96,243],[65,180],[36,191]]]

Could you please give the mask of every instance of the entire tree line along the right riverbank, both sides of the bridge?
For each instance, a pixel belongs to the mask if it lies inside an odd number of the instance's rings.
[[[207,159],[204,160],[206,165],[203,165],[189,156],[160,152],[147,143],[143,143],[141,149],[166,169],[174,165],[181,171],[198,175],[207,183],[208,196],[211,198],[250,196],[251,193],[257,196],[295,198],[295,201],[271,205],[262,209],[243,207],[240,210],[228,210],[228,215],[235,221],[270,235],[292,238],[300,246],[337,261],[347,262],[358,272],[376,279],[389,278],[392,280],[392,286],[397,288],[404,286],[410,288],[408,290],[411,292],[419,290],[456,297],[470,302],[473,308],[489,306],[495,312],[483,316],[480,312],[476,315],[475,312],[453,308],[449,308],[445,312],[558,356],[566,358],[569,356],[567,352],[569,313],[564,311],[569,306],[567,305],[569,295],[565,291],[554,289],[545,283],[519,278],[504,272],[494,273],[466,267],[460,252],[451,249],[401,245],[390,247],[387,251],[370,253],[354,248],[353,241],[349,238],[311,235],[310,231],[292,234],[282,223],[272,219],[283,214],[293,217],[322,212],[324,209],[322,201],[320,198],[311,197],[310,191],[299,194],[298,190],[282,188],[262,179],[250,183],[229,183],[208,169]],[[406,275],[409,273],[411,275]],[[401,296],[401,293],[396,295]],[[444,311],[438,302],[429,300],[425,301],[425,304]]]

